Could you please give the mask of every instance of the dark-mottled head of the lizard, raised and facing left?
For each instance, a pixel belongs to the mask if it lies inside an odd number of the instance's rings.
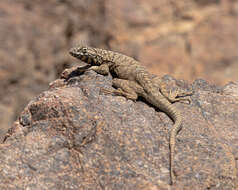
[[[90,65],[101,65],[103,59],[95,48],[78,46],[69,50],[69,54]]]

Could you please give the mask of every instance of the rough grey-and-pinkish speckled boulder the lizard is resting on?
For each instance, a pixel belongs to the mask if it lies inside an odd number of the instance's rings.
[[[0,145],[0,189],[170,189],[169,117],[145,103],[105,95],[111,76],[58,79],[32,100]],[[238,189],[238,83],[193,88],[177,136],[171,189]]]

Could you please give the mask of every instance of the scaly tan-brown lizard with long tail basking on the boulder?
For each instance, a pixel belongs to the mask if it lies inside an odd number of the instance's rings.
[[[165,85],[155,82],[152,79],[152,74],[139,61],[121,53],[87,46],[73,47],[69,50],[69,53],[89,64],[91,66],[90,70],[102,75],[113,73],[116,77],[113,78],[112,83],[117,89],[110,91],[110,93],[122,95],[133,101],[141,96],[173,120],[174,126],[170,131],[169,138],[170,184],[173,185],[175,182],[173,170],[176,135],[182,126],[182,115],[172,103],[186,100],[190,103],[190,99],[185,96],[192,95],[192,92],[179,94],[176,91],[168,93]]]

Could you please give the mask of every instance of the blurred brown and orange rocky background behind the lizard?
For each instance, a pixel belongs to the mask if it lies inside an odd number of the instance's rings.
[[[0,135],[77,61],[70,47],[111,49],[152,73],[238,80],[237,0],[1,0]]]

